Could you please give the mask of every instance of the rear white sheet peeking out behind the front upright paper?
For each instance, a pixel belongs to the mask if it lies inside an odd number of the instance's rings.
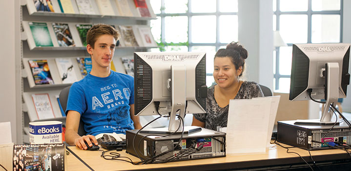
[[[269,113],[269,122],[268,122],[268,133],[267,133],[267,141],[266,148],[270,147],[270,140],[272,139],[272,132],[275,122],[275,117],[277,116],[278,105],[280,100],[280,95],[268,96],[268,97],[256,97],[253,99],[262,99],[262,98],[271,98],[272,102],[270,104],[270,113]]]

